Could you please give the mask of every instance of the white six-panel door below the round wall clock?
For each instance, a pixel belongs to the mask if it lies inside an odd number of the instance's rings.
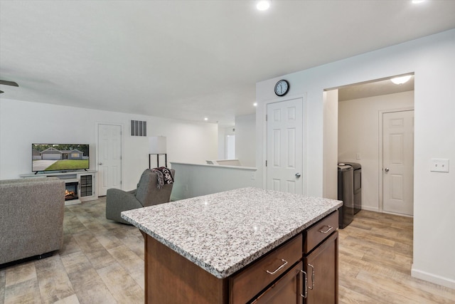
[[[303,101],[267,105],[267,189],[303,194]]]

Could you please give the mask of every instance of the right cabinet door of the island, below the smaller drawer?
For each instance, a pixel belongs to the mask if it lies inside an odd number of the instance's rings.
[[[305,303],[338,303],[338,231],[304,258]]]

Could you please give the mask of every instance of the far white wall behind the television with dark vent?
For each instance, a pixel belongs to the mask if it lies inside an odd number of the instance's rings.
[[[134,189],[149,167],[148,137],[131,137],[130,120],[146,120],[147,135],[167,137],[168,162],[205,163],[217,157],[218,126],[160,117],[0,100],[0,179],[31,173],[31,143],[90,144],[90,169],[96,169],[97,122],[124,126],[122,188]],[[178,178],[178,172],[176,172]]]

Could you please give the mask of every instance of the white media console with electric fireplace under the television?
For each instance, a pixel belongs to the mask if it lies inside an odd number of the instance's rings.
[[[96,171],[21,174],[22,178],[58,177],[65,181],[65,206],[97,199]]]

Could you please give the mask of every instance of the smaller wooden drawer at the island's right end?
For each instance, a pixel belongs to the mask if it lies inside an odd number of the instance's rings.
[[[304,253],[309,253],[338,228],[338,210],[304,231]]]

